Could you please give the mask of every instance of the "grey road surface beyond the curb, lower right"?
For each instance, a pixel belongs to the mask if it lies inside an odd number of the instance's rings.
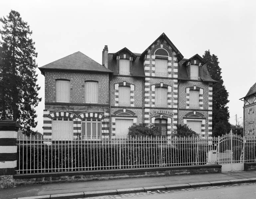
[[[209,186],[200,188],[188,188],[180,190],[155,191],[120,194],[112,196],[89,197],[87,199],[255,199],[256,183],[242,183],[234,185]]]

